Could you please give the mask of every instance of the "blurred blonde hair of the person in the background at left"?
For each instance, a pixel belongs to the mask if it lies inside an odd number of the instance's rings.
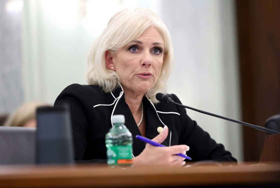
[[[26,122],[36,119],[36,108],[49,106],[40,101],[31,101],[19,106],[5,121],[3,126],[22,127]]]

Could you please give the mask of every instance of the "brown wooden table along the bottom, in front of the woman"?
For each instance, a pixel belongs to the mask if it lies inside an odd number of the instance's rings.
[[[0,187],[280,187],[280,163],[127,169],[106,165],[0,166]]]

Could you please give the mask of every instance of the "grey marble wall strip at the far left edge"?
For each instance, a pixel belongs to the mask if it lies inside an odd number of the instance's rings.
[[[22,87],[23,1],[0,1],[0,114],[12,113],[24,101]]]

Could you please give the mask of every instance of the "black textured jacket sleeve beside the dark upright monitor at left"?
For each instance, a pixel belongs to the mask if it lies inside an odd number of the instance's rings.
[[[104,159],[84,160],[85,151],[89,146],[87,141],[88,134],[88,116],[82,97],[79,93],[86,93],[83,91],[83,86],[79,84],[72,84],[66,87],[55,100],[54,106],[67,104],[70,107],[71,124],[74,144],[74,154],[76,163],[106,163]],[[75,92],[75,90],[79,92]]]

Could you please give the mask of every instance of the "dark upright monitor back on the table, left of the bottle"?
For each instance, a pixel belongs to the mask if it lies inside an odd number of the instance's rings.
[[[39,107],[36,110],[36,163],[73,163],[73,139],[67,106]]]

